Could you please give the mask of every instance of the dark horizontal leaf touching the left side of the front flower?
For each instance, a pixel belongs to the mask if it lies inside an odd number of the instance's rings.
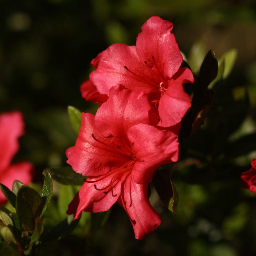
[[[43,172],[49,171],[53,180],[64,185],[83,185],[84,176],[76,173],[71,167],[59,167],[45,169]]]

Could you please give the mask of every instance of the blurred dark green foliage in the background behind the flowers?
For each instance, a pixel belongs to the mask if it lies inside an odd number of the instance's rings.
[[[91,59],[112,43],[135,44],[153,15],[174,23],[195,73],[209,49],[218,59],[231,48],[238,53],[231,74],[214,86],[205,125],[183,143],[187,155],[166,167],[180,198],[177,215],[163,207],[152,187],[150,200],[162,224],[142,241],[134,239],[127,214],[114,205],[107,221],[84,213],[72,235],[49,241],[39,255],[256,254],[256,196],[240,181],[256,157],[254,0],[1,0],[0,111],[20,110],[26,122],[16,159],[36,166],[39,184],[46,167],[66,165],[65,150],[76,140],[67,106],[97,109],[79,91]],[[74,188],[54,183],[54,191],[59,197],[44,220],[49,227],[66,217],[65,198],[71,200]]]

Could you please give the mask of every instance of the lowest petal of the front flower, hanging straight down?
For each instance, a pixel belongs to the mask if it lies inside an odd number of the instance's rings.
[[[148,199],[148,184],[137,184],[129,175],[122,182],[121,195],[118,203],[126,210],[136,239],[155,231],[161,224],[161,219],[151,206]]]

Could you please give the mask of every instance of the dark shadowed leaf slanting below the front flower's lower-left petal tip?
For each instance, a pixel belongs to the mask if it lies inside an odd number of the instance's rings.
[[[49,232],[44,233],[41,239],[42,243],[52,240],[60,240],[71,233],[79,223],[79,219],[73,220],[73,218],[73,215],[69,215],[63,222],[59,223]]]

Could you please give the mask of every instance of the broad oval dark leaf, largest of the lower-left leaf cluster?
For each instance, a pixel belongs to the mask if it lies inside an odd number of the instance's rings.
[[[30,187],[22,186],[17,194],[16,211],[21,223],[29,230],[34,230],[35,219],[43,209],[43,199]]]

